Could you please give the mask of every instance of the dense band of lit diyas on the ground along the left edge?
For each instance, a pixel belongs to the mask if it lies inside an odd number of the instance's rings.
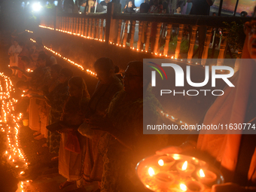
[[[7,151],[5,151],[5,156],[7,157],[8,163],[17,168],[17,175],[22,180],[25,170],[29,164],[25,155],[23,154],[23,150],[20,148],[19,121],[21,120],[22,114],[17,116],[14,115],[14,104],[17,102],[17,100],[11,98],[11,92],[15,91],[11,78],[8,78],[8,76],[4,75],[4,73],[0,73],[0,78],[0,90],[2,91],[2,95],[8,95],[8,98],[3,96],[0,99],[2,101],[0,126],[2,132],[6,133],[7,135],[8,146]],[[5,83],[3,81],[5,81]],[[5,87],[2,87],[2,84],[5,84]],[[29,180],[20,181],[18,184],[19,189],[17,191],[24,192],[26,190],[26,184],[29,182]]]

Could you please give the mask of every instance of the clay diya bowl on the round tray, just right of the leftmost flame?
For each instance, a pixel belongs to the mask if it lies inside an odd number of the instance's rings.
[[[170,172],[159,172],[155,178],[160,188],[168,188],[175,181],[174,175]]]

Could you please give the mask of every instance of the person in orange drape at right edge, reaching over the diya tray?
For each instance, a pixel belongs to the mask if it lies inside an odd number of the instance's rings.
[[[204,117],[203,124],[256,124],[256,8],[251,22],[245,23],[245,44],[239,75],[233,79],[235,87],[226,87],[225,95],[219,96]],[[213,131],[213,130],[212,130]],[[202,157],[212,157],[224,175],[225,184],[215,184],[212,191],[255,191],[256,185],[256,138],[245,130],[227,130],[225,134],[211,134],[202,130],[197,137],[190,136],[183,145],[171,146],[157,151],[157,154],[186,153],[197,151]],[[236,134],[232,134],[236,132]],[[248,187],[249,186],[249,187]]]

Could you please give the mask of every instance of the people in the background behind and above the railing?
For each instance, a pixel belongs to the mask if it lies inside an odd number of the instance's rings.
[[[108,9],[108,2],[111,0],[103,0],[101,2],[93,1],[93,0],[64,0],[60,2],[62,4],[59,5],[62,11],[66,13],[106,13]],[[122,13],[148,13],[152,5],[156,3],[156,1],[148,1],[145,0],[140,5],[135,5],[134,0],[125,1],[125,5],[123,5],[124,1],[113,1],[114,3],[121,3],[121,12]],[[214,1],[192,1],[192,0],[179,0],[176,2],[176,5],[172,3],[172,1],[168,0],[157,0],[158,4],[161,6],[160,14],[197,14],[197,15],[209,15],[210,6],[213,5]],[[192,6],[193,5],[193,6]],[[145,7],[146,6],[146,7]],[[174,6],[174,7],[173,7]],[[193,8],[194,7],[194,8]],[[145,11],[146,8],[146,11]],[[142,10],[142,11],[141,11]],[[247,17],[248,13],[246,11],[241,12],[241,17]]]

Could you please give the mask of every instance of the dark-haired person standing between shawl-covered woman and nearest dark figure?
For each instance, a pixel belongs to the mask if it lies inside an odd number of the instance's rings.
[[[120,78],[114,74],[116,68],[111,59],[102,57],[94,63],[94,69],[99,79],[96,89],[87,108],[87,121],[93,118],[103,118],[114,94],[122,90]],[[86,182],[102,181],[102,154],[99,154],[99,139],[103,132],[90,130],[85,122],[79,127],[79,132],[87,136],[87,150],[84,159],[84,180]]]

